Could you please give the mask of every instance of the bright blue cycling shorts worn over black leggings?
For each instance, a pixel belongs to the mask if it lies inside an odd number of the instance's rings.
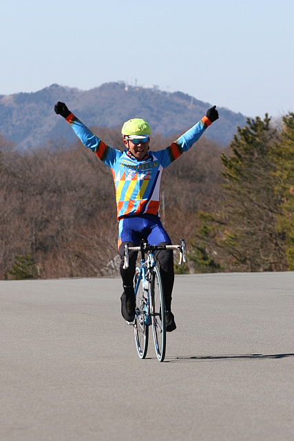
[[[169,235],[162,226],[160,218],[153,214],[142,214],[120,219],[118,223],[118,248],[123,242],[133,242],[140,245],[140,240],[145,239],[151,245],[162,242],[171,243]]]

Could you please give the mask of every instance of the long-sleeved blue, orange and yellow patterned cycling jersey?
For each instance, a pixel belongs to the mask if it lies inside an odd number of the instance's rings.
[[[211,121],[204,116],[169,147],[149,152],[139,161],[130,152],[109,147],[79,119],[70,114],[67,122],[85,147],[89,147],[112,170],[116,187],[118,220],[140,214],[159,216],[159,187],[162,170],[196,143]]]

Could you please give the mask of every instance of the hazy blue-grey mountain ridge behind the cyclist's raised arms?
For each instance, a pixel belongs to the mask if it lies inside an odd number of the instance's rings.
[[[74,141],[72,130],[54,113],[56,101],[67,103],[88,127],[121,127],[127,119],[140,117],[164,136],[185,132],[215,104],[182,92],[135,87],[122,81],[87,91],[52,84],[37,92],[0,95],[0,132],[20,149],[39,147],[54,139]],[[205,136],[227,145],[237,126],[246,124],[246,117],[224,107],[218,107],[218,111],[220,119]]]

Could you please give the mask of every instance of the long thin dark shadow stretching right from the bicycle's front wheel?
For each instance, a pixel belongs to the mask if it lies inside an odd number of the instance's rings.
[[[165,358],[165,362],[183,362],[183,361],[218,361],[218,360],[269,360],[277,358],[293,357],[294,353],[272,353],[264,355],[263,353],[231,354],[220,356],[179,356],[175,358]]]

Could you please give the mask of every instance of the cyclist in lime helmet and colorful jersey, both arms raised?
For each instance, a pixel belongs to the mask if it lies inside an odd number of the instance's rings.
[[[54,106],[56,114],[63,116],[85,145],[108,165],[114,176],[118,218],[118,252],[120,254],[120,275],[123,279],[121,313],[132,322],[135,316],[136,300],[133,279],[136,271],[137,252],[129,253],[129,267],[123,269],[125,244],[140,245],[141,238],[151,245],[169,245],[171,240],[159,216],[159,187],[162,170],[189,150],[204,130],[218,119],[216,105],[207,110],[206,116],[180,136],[169,147],[158,152],[149,150],[151,127],[140,118],[130,119],[121,130],[125,151],[121,152],[106,145],[93,134],[65,103],[58,101]],[[176,323],[171,312],[171,293],[174,286],[174,255],[172,250],[160,250],[156,256],[165,293],[166,327],[174,331]]]

